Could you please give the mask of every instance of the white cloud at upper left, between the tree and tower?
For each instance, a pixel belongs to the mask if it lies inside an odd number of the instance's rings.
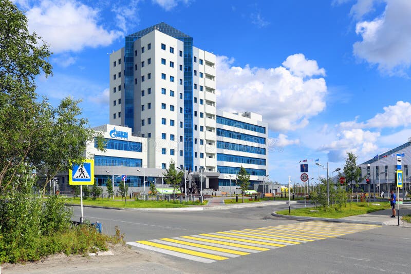
[[[99,25],[99,10],[76,1],[43,0],[27,10],[30,31],[35,31],[54,53],[110,45],[123,35]]]

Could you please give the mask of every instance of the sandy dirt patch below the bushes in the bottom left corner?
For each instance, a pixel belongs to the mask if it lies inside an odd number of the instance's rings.
[[[3,264],[1,273],[184,273],[175,262],[159,253],[111,246],[113,256],[53,255],[37,262]]]

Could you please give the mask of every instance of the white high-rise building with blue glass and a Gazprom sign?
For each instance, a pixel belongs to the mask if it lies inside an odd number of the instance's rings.
[[[234,186],[241,165],[252,183],[267,180],[267,123],[256,113],[216,110],[215,62],[164,23],[125,37],[125,47],[110,54],[109,125],[96,129],[110,148],[87,148],[100,185],[107,174],[126,174],[132,191],[143,190],[143,181],[161,184],[171,160],[198,186],[203,169],[204,189],[226,189],[230,178]],[[128,139],[110,134],[114,128]]]

